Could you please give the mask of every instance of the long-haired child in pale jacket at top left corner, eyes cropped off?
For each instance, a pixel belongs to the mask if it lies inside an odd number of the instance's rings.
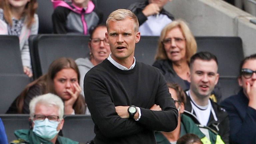
[[[1,0],[0,34],[16,35],[20,40],[23,70],[29,77],[33,76],[30,63],[28,38],[38,32],[38,16],[35,14],[36,0]]]

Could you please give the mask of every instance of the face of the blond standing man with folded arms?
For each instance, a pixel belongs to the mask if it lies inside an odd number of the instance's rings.
[[[110,45],[111,57],[117,61],[133,60],[135,43],[140,32],[134,30],[134,20],[127,17],[122,21],[109,21],[106,39]]]

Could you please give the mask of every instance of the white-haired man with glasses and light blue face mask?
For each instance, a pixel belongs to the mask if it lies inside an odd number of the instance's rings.
[[[64,104],[60,97],[48,93],[33,98],[29,103],[32,130],[16,130],[17,140],[11,144],[78,144],[58,136],[64,124]]]

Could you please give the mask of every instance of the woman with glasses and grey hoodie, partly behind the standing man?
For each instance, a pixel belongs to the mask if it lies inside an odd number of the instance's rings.
[[[90,53],[85,58],[76,59],[76,64],[80,71],[80,86],[82,88],[82,95],[84,95],[84,76],[94,66],[105,60],[110,54],[109,44],[106,41],[105,33],[107,27],[105,25],[98,25],[90,34],[90,41],[88,42]]]

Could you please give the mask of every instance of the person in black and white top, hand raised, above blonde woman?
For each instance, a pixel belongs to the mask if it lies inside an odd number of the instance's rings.
[[[168,1],[171,0],[145,0],[128,7],[138,17],[141,35],[160,36],[162,29],[174,20],[174,16],[164,9]]]

